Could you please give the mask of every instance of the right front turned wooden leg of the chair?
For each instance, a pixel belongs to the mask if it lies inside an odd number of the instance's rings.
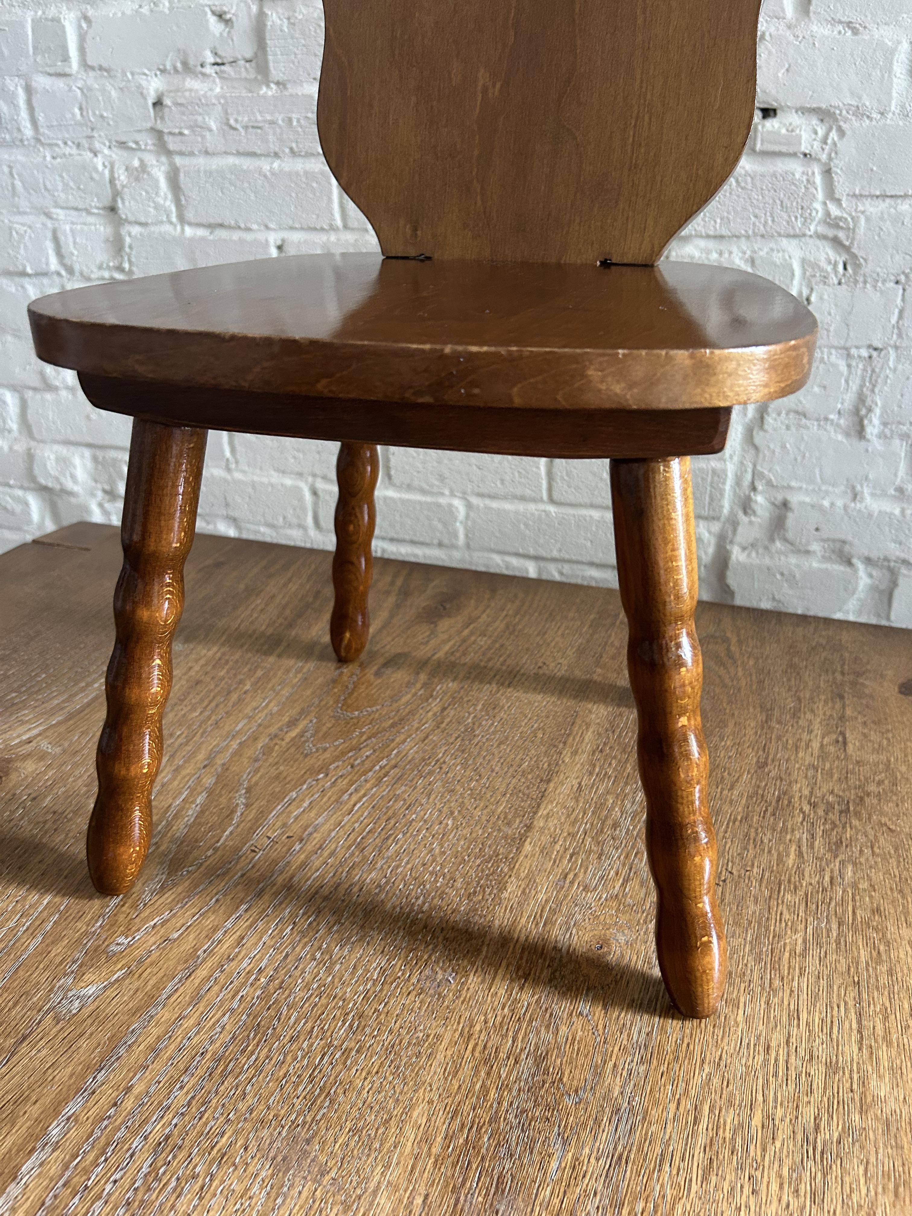
[[[630,626],[627,669],[640,719],[646,848],[658,893],[655,947],[676,1008],[688,1018],[708,1018],[722,996],[727,956],[700,725],[689,460],[612,461],[612,502]]]

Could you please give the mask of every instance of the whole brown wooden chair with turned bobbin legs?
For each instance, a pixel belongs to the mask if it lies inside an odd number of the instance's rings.
[[[207,428],[342,441],[336,606],[367,642],[376,444],[612,457],[659,966],[708,1017],[726,945],[706,807],[689,456],[807,379],[766,280],[655,265],[734,169],[760,0],[325,0],[319,128],[379,254],[275,258],[30,306],[35,349],[134,416],[88,856],[136,880]]]

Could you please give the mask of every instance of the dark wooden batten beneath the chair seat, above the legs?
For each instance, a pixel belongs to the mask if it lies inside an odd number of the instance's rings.
[[[485,410],[180,388],[80,375],[100,410],[213,430],[511,456],[697,456],[725,447],[731,410]]]

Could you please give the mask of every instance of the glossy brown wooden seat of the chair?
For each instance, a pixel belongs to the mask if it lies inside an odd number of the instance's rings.
[[[486,409],[767,401],[805,383],[817,332],[788,292],[721,266],[373,254],[103,283],[29,313],[39,358],[91,376]]]

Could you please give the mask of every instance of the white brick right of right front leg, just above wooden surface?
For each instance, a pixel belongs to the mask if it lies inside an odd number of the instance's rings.
[[[835,617],[858,589],[858,575],[851,565],[778,554],[736,553],[726,578],[736,604],[811,617]]]

